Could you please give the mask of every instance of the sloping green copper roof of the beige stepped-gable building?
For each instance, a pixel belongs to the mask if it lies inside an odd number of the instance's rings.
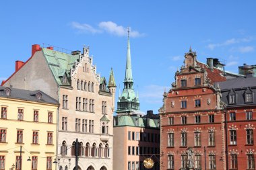
[[[62,77],[70,77],[70,69],[75,65],[75,60],[79,59],[79,55],[71,55],[47,48],[42,48],[46,61],[53,72],[53,75],[59,85],[70,85],[69,81],[63,84]]]

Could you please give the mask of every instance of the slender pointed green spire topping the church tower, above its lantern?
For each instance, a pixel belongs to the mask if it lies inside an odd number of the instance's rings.
[[[130,51],[130,30],[128,28],[128,44],[127,44],[127,58],[126,58],[126,69],[125,69],[125,82],[133,81],[133,75],[131,73],[131,51]]]

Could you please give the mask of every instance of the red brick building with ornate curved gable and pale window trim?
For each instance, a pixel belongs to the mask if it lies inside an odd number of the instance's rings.
[[[225,169],[224,105],[214,83],[241,75],[223,67],[216,58],[207,58],[207,65],[197,61],[191,49],[185,54],[160,108],[160,169]]]

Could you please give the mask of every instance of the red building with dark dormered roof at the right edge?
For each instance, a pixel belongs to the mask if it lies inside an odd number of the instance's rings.
[[[248,69],[247,65],[243,69]],[[240,69],[240,68],[239,68]],[[220,82],[226,123],[226,169],[255,169],[256,77]]]

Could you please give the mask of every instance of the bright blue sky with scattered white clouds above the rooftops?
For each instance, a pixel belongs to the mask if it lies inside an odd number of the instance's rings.
[[[164,90],[189,47],[197,60],[219,58],[226,71],[256,65],[256,1],[3,1],[0,6],[0,81],[26,61],[32,44],[68,50],[90,46],[101,76],[113,67],[123,90],[127,27],[142,112],[162,106]],[[44,45],[46,46],[46,45]],[[56,48],[57,49],[57,48]]]

